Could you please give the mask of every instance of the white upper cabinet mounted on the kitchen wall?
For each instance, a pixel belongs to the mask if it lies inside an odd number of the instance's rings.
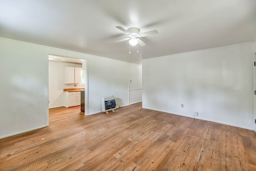
[[[82,68],[65,67],[65,84],[80,84],[81,83],[81,71]]]

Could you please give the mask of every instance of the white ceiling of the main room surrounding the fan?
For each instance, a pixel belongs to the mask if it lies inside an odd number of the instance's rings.
[[[131,47],[115,28],[132,27]],[[142,59],[256,38],[256,0],[0,0],[0,37],[141,64]]]

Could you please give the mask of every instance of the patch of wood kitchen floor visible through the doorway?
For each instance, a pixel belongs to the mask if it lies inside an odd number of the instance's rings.
[[[84,112],[81,112],[80,106],[75,107],[56,107],[49,109],[49,124],[64,121],[67,119],[72,119],[74,117],[79,117],[84,115]]]

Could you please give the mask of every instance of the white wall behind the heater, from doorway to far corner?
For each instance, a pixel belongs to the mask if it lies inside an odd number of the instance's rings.
[[[88,89],[90,92],[88,98],[91,102],[89,103],[89,114],[101,111],[101,103],[98,101],[102,97],[114,95],[116,103],[121,107],[131,104],[128,98],[132,99],[132,103],[141,101],[142,93],[130,95],[129,92],[130,87],[142,91],[142,65],[107,58],[95,58],[93,61],[89,60],[89,63]],[[131,79],[133,80],[132,83],[130,83]]]

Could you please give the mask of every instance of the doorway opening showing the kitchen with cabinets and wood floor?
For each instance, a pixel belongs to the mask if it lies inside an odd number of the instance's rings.
[[[87,78],[85,59],[48,54],[49,124],[86,115]],[[72,79],[73,81],[70,81]],[[82,101],[86,101],[84,112],[81,111],[83,90],[85,95]]]

